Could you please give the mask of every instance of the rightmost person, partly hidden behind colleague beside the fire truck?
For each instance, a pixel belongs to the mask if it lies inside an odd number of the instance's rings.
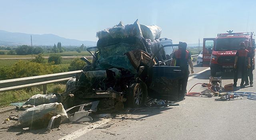
[[[254,65],[254,56],[255,56],[255,52],[254,52],[254,49],[251,47],[251,46],[248,46],[247,50],[249,51],[249,56],[250,56],[250,68],[248,68],[248,76],[249,76],[249,79],[250,79],[250,87],[253,87],[253,65]],[[248,80],[248,76],[246,76],[245,78],[245,84],[244,86],[248,86],[249,85],[249,80]]]

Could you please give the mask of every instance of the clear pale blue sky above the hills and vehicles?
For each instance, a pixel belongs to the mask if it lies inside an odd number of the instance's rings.
[[[0,30],[78,40],[97,41],[97,31],[136,19],[174,43],[256,32],[256,0],[0,0],[0,7]]]

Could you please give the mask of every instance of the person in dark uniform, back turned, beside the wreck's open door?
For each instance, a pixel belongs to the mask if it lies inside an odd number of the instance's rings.
[[[172,66],[180,66],[182,72],[184,72],[184,77],[179,80],[178,84],[178,100],[184,100],[186,95],[186,88],[188,84],[189,69],[191,68],[191,73],[194,73],[192,58],[190,52],[186,50],[186,42],[180,42],[178,45],[178,50],[174,52],[172,58]]]

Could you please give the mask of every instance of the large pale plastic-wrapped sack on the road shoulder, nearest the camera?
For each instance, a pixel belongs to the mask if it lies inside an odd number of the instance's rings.
[[[22,127],[47,127],[52,116],[59,114],[62,122],[68,120],[66,111],[61,103],[42,104],[33,108],[28,108],[18,118]]]

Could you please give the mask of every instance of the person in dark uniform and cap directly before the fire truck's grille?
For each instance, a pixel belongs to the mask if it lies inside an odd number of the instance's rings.
[[[247,76],[247,68],[250,68],[250,57],[249,57],[249,51],[245,49],[245,43],[240,42],[239,44],[240,49],[236,52],[236,58],[235,58],[235,72],[234,72],[234,84],[233,86],[236,87],[236,83],[238,80],[238,74],[241,73],[242,79],[240,88],[245,88],[244,86],[244,80]],[[248,61],[248,63],[246,62]]]

